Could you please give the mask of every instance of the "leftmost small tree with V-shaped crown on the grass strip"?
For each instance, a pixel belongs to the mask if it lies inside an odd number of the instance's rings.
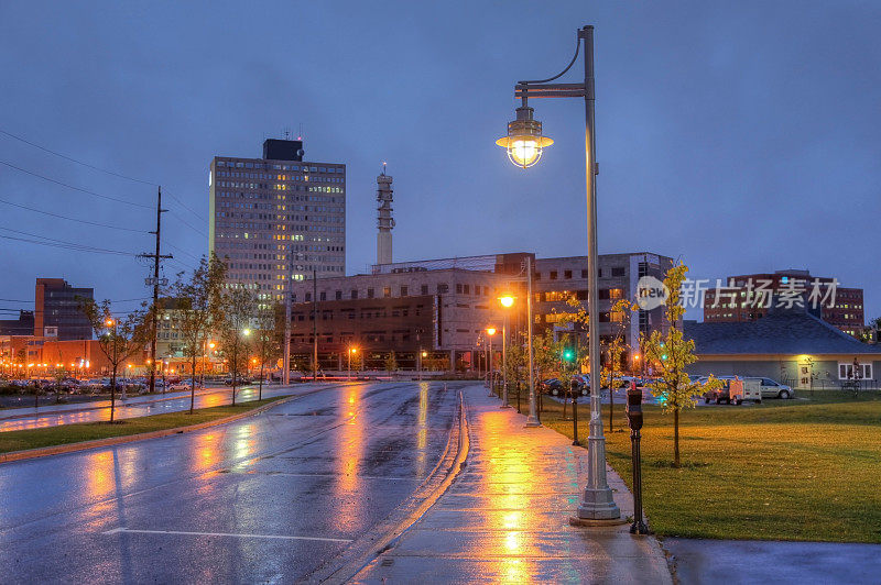
[[[89,320],[91,329],[95,330],[101,353],[110,362],[112,372],[110,377],[110,422],[113,422],[119,365],[138,351],[143,351],[144,344],[150,339],[152,322],[149,312],[143,309],[132,311],[126,317],[115,317],[109,300],[98,303],[94,299],[80,299],[79,302],[83,313]]]

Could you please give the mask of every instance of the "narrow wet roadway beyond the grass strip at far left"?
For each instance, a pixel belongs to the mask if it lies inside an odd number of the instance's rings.
[[[263,387],[263,398],[273,396],[287,396],[298,394],[313,384],[296,386]],[[236,391],[236,401],[257,400],[258,388],[247,386]],[[228,405],[232,401],[231,388],[207,388],[196,391],[195,408],[210,408]],[[138,396],[126,400],[117,399],[115,418],[130,419],[149,417],[165,412],[181,412],[189,409],[189,393],[170,393],[168,396]],[[41,413],[42,411],[42,413]],[[79,402],[75,405],[47,405],[33,408],[15,408],[0,410],[0,432],[20,431],[25,429],[42,429],[57,424],[74,424],[76,422],[97,422],[110,420],[110,400],[96,402]]]

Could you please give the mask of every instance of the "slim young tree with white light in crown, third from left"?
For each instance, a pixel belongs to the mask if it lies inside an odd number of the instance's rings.
[[[248,371],[251,321],[255,313],[254,294],[246,285],[238,284],[221,296],[222,320],[218,321],[220,353],[227,360],[232,377],[232,406],[236,406],[236,387],[239,376]]]

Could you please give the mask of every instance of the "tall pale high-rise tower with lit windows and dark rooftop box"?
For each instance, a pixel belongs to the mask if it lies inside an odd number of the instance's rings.
[[[281,300],[290,280],[346,274],[346,165],[303,161],[303,142],[267,140],[262,158],[215,156],[209,249],[229,284]]]

